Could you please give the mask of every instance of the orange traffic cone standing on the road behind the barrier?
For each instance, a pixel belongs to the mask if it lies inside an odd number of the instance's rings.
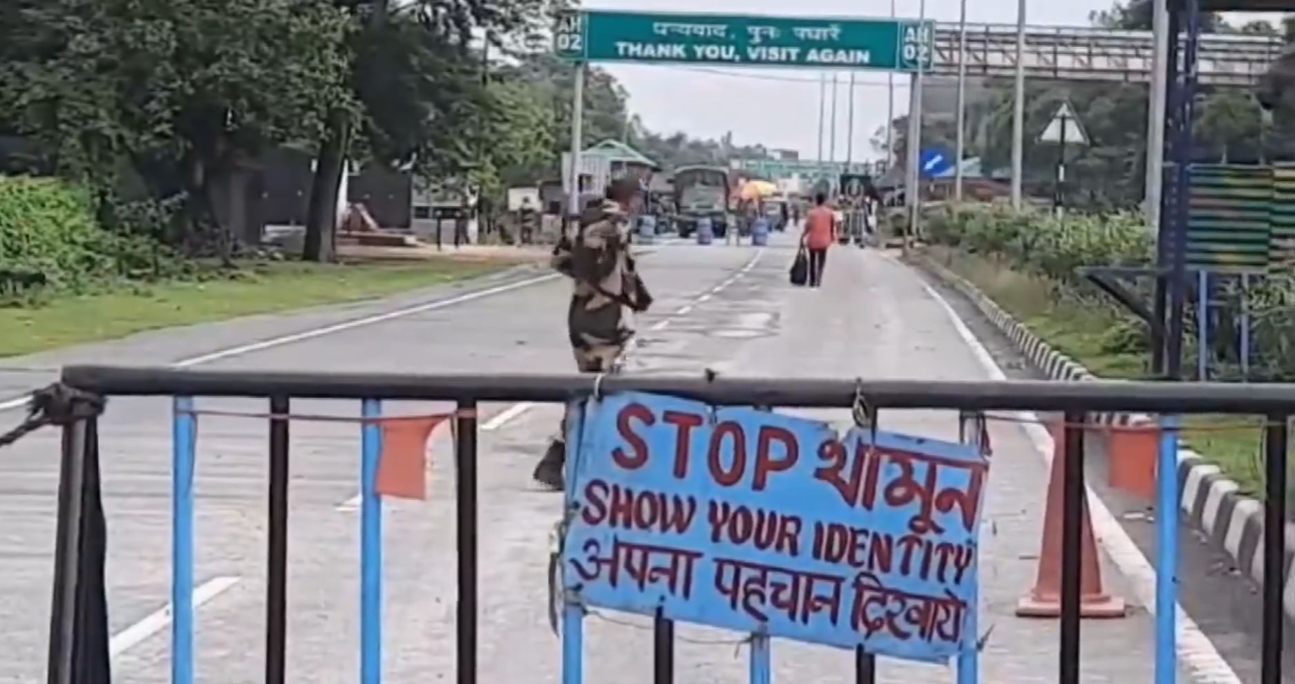
[[[1066,462],[1064,429],[1061,422],[1052,422],[1053,435],[1052,477],[1048,481],[1048,509],[1044,514],[1042,552],[1039,556],[1039,579],[1030,595],[1017,604],[1017,615],[1023,618],[1061,617],[1061,519],[1062,519],[1062,478]],[[1106,593],[1102,588],[1102,566],[1097,558],[1097,543],[1093,540],[1093,521],[1088,517],[1085,497],[1083,534],[1080,538],[1080,589],[1079,610],[1085,618],[1123,618],[1124,600]]]

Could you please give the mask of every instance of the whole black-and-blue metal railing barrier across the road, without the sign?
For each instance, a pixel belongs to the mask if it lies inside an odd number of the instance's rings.
[[[1260,415],[1265,417],[1267,507],[1263,583],[1263,684],[1281,680],[1282,564],[1286,519],[1287,418],[1295,413],[1295,385],[1224,385],[1156,382],[930,382],[869,380],[760,380],[633,376],[508,376],[508,374],[339,374],[183,370],[161,368],[69,367],[61,385],[40,395],[32,429],[62,428],[62,466],[53,611],[49,632],[51,684],[106,684],[109,657],[104,605],[104,512],[98,494],[97,421],[105,398],[174,396],[174,529],[171,674],[174,684],[192,684],[193,663],[193,477],[198,396],[262,398],[268,403],[269,534],[265,614],[265,681],[285,681],[289,425],[293,399],[352,399],[363,403],[361,457],[361,665],[360,681],[378,684],[382,676],[382,548],[381,507],[374,495],[381,450],[382,400],[453,402],[457,494],[457,665],[455,681],[478,681],[478,452],[477,407],[482,402],[570,403],[601,393],[649,393],[702,402],[711,407],[859,408],[866,400],[869,418],[888,409],[949,409],[958,413],[965,444],[987,439],[987,412],[1050,412],[1064,416],[1059,440],[1063,466],[1061,557],[1061,637],[1057,681],[1080,680],[1080,554],[1085,514],[1084,431],[1090,412],[1138,412],[1164,416],[1160,473],[1177,473],[1178,416],[1190,413]],[[1024,413],[1028,416],[1030,413]],[[857,416],[857,415],[856,415]],[[991,420],[993,417],[991,416]],[[857,417],[856,417],[857,420]],[[1008,418],[1019,420],[1019,418]],[[1036,418],[1037,420],[1037,418]],[[1155,516],[1158,523],[1155,681],[1175,681],[1177,604],[1177,477],[1160,477],[1158,505],[1175,514]],[[1162,521],[1164,521],[1162,523]],[[570,602],[567,606],[570,608]],[[976,613],[971,610],[973,615]],[[574,636],[574,635],[572,635]],[[971,619],[971,639],[975,622]],[[579,658],[566,639],[567,658]],[[675,626],[660,613],[653,630],[654,681],[673,681]],[[768,639],[752,635],[752,681],[769,681]],[[855,681],[877,680],[873,656],[856,649]],[[576,661],[579,662],[579,661]],[[978,680],[975,649],[958,659],[958,683]],[[563,681],[575,684],[566,672]],[[493,683],[491,683],[493,684]]]

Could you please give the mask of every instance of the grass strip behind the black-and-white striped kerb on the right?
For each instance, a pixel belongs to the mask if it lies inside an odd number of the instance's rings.
[[[1120,323],[1114,308],[1066,297],[1054,282],[1014,271],[998,259],[940,246],[930,249],[934,259],[979,288],[1040,339],[1093,374],[1116,380],[1146,377],[1145,352],[1112,350],[1110,330]],[[1235,479],[1243,494],[1263,499],[1260,429],[1259,417],[1189,416],[1184,418],[1182,439]]]

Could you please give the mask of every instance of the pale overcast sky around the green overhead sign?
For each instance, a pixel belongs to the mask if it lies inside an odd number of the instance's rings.
[[[899,0],[900,16],[917,18],[918,0]],[[1110,8],[1110,0],[1028,0],[1031,25],[1087,26],[1092,10]],[[888,17],[891,0],[588,0],[585,6],[640,12],[716,12],[734,14],[794,14],[798,17]],[[927,0],[926,13],[935,21],[956,22],[958,0]],[[1017,0],[970,0],[967,21],[1011,23]],[[629,91],[631,110],[658,132],[685,131],[693,136],[719,137],[733,132],[734,142],[763,142],[772,148],[799,150],[805,158],[817,154],[818,78],[813,70],[729,69],[613,65],[607,69]],[[830,79],[830,75],[829,75]],[[846,158],[850,76],[838,71],[837,158]],[[896,84],[906,76],[896,76]],[[887,75],[860,73],[855,89],[855,159],[873,158],[869,140],[886,123]],[[908,88],[896,86],[896,113],[908,109]],[[829,95],[830,111],[830,95]],[[826,146],[826,144],[825,144]],[[825,152],[826,157],[826,152]]]

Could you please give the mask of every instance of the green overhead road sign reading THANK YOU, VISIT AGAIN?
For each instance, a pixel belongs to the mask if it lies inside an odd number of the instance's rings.
[[[932,22],[728,14],[571,12],[554,49],[587,62],[930,69]]]

